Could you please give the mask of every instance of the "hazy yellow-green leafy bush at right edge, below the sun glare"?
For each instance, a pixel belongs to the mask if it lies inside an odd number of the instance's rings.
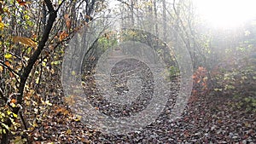
[[[246,112],[256,112],[255,66],[253,60],[237,59],[218,67],[212,80],[218,95],[233,98],[232,107]]]

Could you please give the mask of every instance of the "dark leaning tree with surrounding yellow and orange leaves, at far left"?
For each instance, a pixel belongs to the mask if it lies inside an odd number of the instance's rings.
[[[36,129],[38,116],[44,117],[40,107],[51,106],[47,96],[40,95],[47,85],[46,73],[57,72],[65,43],[92,20],[100,2],[85,1],[84,14],[79,14],[84,1],[0,2],[1,143],[9,143],[10,131],[17,128],[24,130],[20,135],[26,139],[26,131]]]

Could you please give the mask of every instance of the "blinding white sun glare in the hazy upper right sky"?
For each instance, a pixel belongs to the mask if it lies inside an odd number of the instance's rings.
[[[255,0],[195,0],[202,20],[213,27],[233,28],[256,18]]]

